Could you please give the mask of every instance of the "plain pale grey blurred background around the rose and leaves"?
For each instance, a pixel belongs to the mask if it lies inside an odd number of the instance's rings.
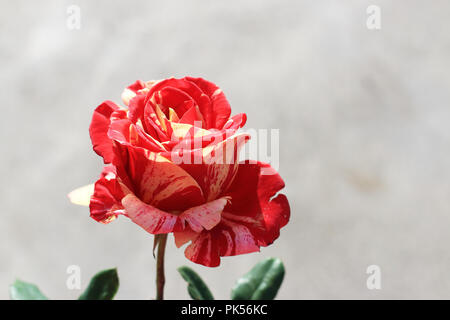
[[[1,0],[0,298],[16,277],[74,299],[118,267],[118,299],[155,295],[153,238],[105,226],[66,195],[98,177],[88,126],[136,79],[201,76],[247,127],[280,129],[292,210],[261,253],[195,265],[169,238],[166,298],[188,265],[217,298],[268,256],[281,299],[450,298],[450,2]],[[369,5],[381,29],[366,26]],[[81,28],[67,27],[67,8]],[[366,269],[381,269],[368,290]]]

